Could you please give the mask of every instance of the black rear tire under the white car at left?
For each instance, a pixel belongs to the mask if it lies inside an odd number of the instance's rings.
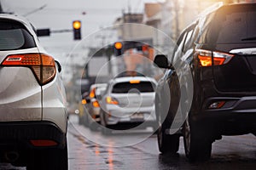
[[[32,150],[27,170],[67,170],[67,143],[63,149]]]

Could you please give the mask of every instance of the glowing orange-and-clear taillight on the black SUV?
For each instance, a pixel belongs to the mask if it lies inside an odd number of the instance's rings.
[[[200,61],[201,66],[224,65],[227,64],[234,54],[225,54],[216,51],[209,51],[204,49],[197,49],[195,51]]]

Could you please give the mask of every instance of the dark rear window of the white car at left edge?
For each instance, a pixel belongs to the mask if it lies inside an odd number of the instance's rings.
[[[14,20],[0,20],[0,50],[34,47],[34,39],[25,26]]]

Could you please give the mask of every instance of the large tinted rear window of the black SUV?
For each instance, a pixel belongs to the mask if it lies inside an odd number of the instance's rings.
[[[218,10],[208,32],[217,44],[256,42],[256,5],[228,6]]]

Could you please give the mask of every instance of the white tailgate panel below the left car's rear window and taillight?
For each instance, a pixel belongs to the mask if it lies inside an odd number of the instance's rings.
[[[41,87],[32,71],[26,67],[4,67],[0,68],[0,77],[4,80],[0,82],[0,122],[40,121]]]

